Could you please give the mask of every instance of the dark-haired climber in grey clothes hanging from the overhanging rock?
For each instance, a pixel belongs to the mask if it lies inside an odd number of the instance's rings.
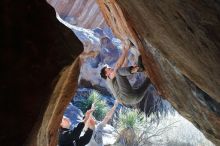
[[[122,46],[123,52],[116,62],[115,67],[103,67],[101,69],[100,75],[103,79],[106,80],[106,83],[112,94],[115,98],[118,99],[119,102],[128,105],[137,104],[144,97],[147,88],[150,85],[150,80],[149,78],[146,78],[140,88],[132,88],[127,79],[127,76],[144,71],[144,66],[142,64],[141,56],[139,56],[137,66],[123,67],[123,64],[128,55],[128,51],[131,47],[131,42],[126,40],[123,42]]]

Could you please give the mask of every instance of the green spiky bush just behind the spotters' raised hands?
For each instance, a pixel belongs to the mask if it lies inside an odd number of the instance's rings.
[[[91,105],[93,103],[95,103],[96,107],[93,115],[97,120],[101,121],[104,118],[109,107],[106,102],[101,99],[101,96],[98,92],[92,91],[87,100],[83,100],[80,102],[79,108],[82,110],[83,113],[85,113],[89,108],[91,108]]]

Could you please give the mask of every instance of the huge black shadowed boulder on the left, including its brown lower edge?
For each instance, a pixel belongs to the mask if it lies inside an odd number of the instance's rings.
[[[64,108],[74,93],[79,67],[77,62],[67,66],[82,52],[82,44],[56,19],[54,9],[44,0],[2,0],[0,3],[0,145],[23,145],[33,134],[35,138],[29,144],[45,146],[49,137],[50,143],[56,139]],[[64,68],[66,70],[60,73]],[[73,68],[73,74],[68,74]],[[68,77],[74,80],[72,84],[64,82]],[[61,93],[58,91],[62,88],[53,90],[58,79],[59,87],[68,84],[71,90],[62,90]],[[55,106],[57,98],[63,95],[65,99]],[[41,131],[36,142],[42,122],[46,132]],[[53,134],[46,135],[48,131]],[[42,135],[47,136],[45,141]]]

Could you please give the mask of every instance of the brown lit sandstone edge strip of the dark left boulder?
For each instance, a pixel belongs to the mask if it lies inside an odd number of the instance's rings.
[[[59,121],[63,117],[65,107],[72,100],[74,96],[79,77],[79,59],[62,71],[60,79],[57,82],[53,93],[51,94],[49,104],[43,116],[40,129],[37,136],[30,140],[29,145],[36,142],[36,145],[57,145],[57,129],[59,128]]]

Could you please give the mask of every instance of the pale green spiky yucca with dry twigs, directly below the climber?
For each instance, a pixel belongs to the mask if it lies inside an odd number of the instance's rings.
[[[151,139],[162,135],[172,126],[158,127],[152,123],[151,118],[146,118],[145,113],[137,109],[125,108],[118,116],[117,131],[119,137],[116,145],[122,146],[145,146],[151,143]]]

